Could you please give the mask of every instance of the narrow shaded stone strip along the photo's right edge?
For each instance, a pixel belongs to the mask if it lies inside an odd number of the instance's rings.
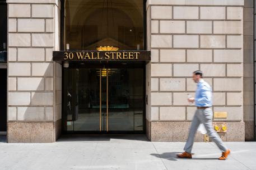
[[[244,123],[245,140],[254,140],[253,0],[244,1]]]

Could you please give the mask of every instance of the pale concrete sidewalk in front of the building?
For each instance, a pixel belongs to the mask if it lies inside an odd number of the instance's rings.
[[[221,152],[210,142],[194,143],[193,159],[176,158],[184,144],[149,142],[145,135],[75,135],[55,143],[5,143],[0,137],[0,169],[256,169],[256,142],[226,142],[226,161],[217,159]]]

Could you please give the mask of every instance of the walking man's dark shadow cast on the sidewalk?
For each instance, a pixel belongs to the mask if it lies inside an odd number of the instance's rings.
[[[164,152],[162,154],[151,153],[152,156],[159,157],[162,159],[167,159],[170,161],[178,161],[179,159],[187,159],[187,160],[217,160],[218,158],[178,158],[176,154],[180,154],[180,152]],[[193,154],[193,153],[192,153]]]

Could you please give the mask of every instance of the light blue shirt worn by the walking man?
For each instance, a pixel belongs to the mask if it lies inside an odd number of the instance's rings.
[[[203,79],[200,79],[199,82],[197,83],[195,105],[198,107],[212,106],[212,88]]]

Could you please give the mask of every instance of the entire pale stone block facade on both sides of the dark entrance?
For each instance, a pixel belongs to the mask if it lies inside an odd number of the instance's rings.
[[[60,1],[7,0],[8,142],[55,142],[62,133]],[[147,0],[146,135],[184,142],[196,108],[187,102],[202,70],[213,111],[227,112],[225,141],[254,140],[253,1]],[[203,141],[197,134],[196,141]]]

